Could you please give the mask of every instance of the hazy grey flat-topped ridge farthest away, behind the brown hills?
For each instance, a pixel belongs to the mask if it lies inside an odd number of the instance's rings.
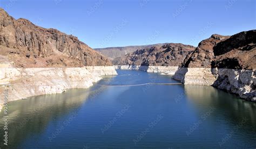
[[[135,46],[123,46],[123,47],[110,47],[110,48],[96,48],[94,50],[100,52],[102,55],[109,59],[115,59],[117,57],[123,57],[128,53],[132,53],[136,50],[151,48],[152,46],[161,47],[164,44],[152,44],[152,45],[135,45]]]

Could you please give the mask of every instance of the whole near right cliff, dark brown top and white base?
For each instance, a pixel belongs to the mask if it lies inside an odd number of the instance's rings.
[[[187,55],[174,79],[184,84],[212,85],[255,99],[256,30],[233,36],[212,35]]]

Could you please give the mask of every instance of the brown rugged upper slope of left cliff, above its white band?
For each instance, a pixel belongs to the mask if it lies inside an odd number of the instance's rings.
[[[107,66],[111,62],[77,37],[44,29],[27,19],[14,19],[0,8],[0,55],[16,66]]]

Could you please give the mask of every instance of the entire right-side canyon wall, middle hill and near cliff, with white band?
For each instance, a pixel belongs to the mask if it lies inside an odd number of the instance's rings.
[[[184,52],[187,46],[176,49],[177,46],[137,50],[113,63],[119,64],[116,69],[174,75],[174,79],[184,84],[212,85],[256,101],[256,30],[233,36],[214,34],[202,40],[192,52]]]

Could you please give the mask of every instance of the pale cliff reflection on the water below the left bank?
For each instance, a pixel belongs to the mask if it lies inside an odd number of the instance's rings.
[[[8,147],[18,147],[26,137],[36,136],[44,131],[50,121],[70,116],[86,100],[93,100],[105,88],[93,86],[90,89],[71,89],[62,94],[35,96],[9,102]],[[1,145],[3,146],[3,110],[0,114]]]

